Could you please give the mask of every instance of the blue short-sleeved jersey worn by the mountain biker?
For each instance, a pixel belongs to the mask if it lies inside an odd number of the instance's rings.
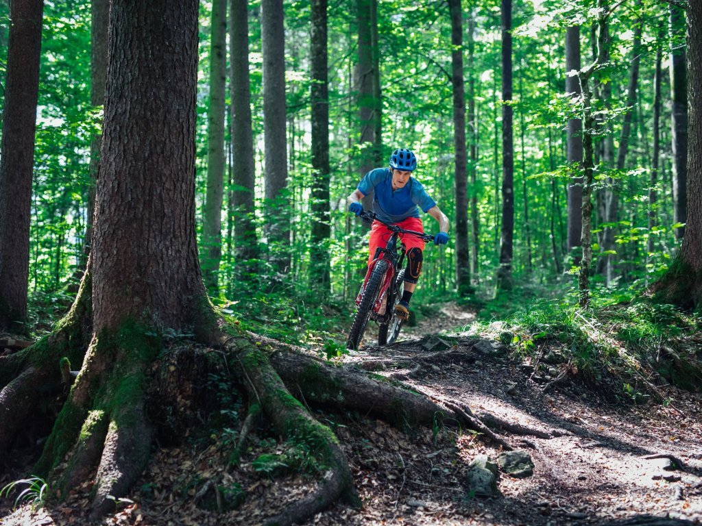
[[[366,173],[359,182],[358,189],[364,196],[374,191],[373,212],[386,223],[399,223],[407,217],[419,217],[419,208],[427,212],[437,204],[413,177],[409,178],[404,187],[393,190],[390,168],[376,168]]]

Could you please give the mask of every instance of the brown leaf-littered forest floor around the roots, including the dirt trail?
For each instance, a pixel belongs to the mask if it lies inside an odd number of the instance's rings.
[[[442,306],[442,325],[420,323],[406,337],[436,334],[470,323],[473,314]],[[435,318],[435,319],[436,319]],[[500,473],[498,497],[477,497],[466,483],[468,464],[479,454],[496,459],[501,450],[449,422],[411,434],[370,414],[314,413],[336,432],[350,462],[362,508],[338,503],[309,525],[605,525],[702,524],[702,393],[658,386],[658,396],[634,404],[621,397],[621,379],[604,375],[591,382],[567,375],[537,381],[531,358],[510,353],[498,342],[466,332],[406,339],[392,346],[366,346],[346,363],[385,364],[380,374],[402,379],[436,400],[457,400],[479,414],[492,414],[551,438],[505,432],[512,447],[527,452],[534,474]],[[546,345],[546,344],[545,344]],[[545,356],[548,349],[541,349]],[[430,358],[429,358],[430,357]],[[425,359],[429,358],[429,359]],[[553,367],[565,367],[555,364]],[[641,400],[639,400],[641,401]],[[286,502],[309,490],[300,475],[273,477],[256,471],[255,452],[236,470],[227,468],[226,436],[186,440],[154,452],[130,498],[107,517],[110,525],[259,524]],[[258,445],[272,437],[260,438]],[[260,468],[260,466],[259,466]],[[26,473],[26,471],[25,471]],[[207,511],[214,491],[207,480],[238,487],[243,504],[226,513]],[[7,479],[0,480],[1,484]],[[87,522],[89,484],[62,504],[12,511],[0,499],[0,525],[69,525]],[[199,505],[195,501],[201,497]],[[210,504],[206,505],[207,499]],[[625,522],[626,520],[637,522]],[[689,522],[684,522],[684,521]]]

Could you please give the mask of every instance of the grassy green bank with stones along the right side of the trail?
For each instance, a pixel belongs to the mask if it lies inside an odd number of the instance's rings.
[[[702,386],[702,317],[647,299],[585,310],[541,301],[463,330],[507,345],[541,383],[579,374],[634,403],[664,402],[660,386]]]

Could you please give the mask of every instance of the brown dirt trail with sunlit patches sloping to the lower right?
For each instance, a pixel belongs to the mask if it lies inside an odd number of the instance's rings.
[[[445,445],[435,445],[435,451],[424,453],[425,457],[439,450],[442,453],[432,458],[452,459],[437,462],[438,471],[431,466],[430,475],[421,464],[407,468],[402,487],[387,481],[397,490],[395,504],[370,492],[366,498],[372,504],[367,508],[374,513],[345,520],[371,524],[380,518],[377,512],[385,509],[385,515],[380,515],[388,524],[592,524],[635,515],[702,521],[699,393],[663,387],[668,405],[624,405],[610,386],[600,389],[577,379],[544,392],[543,384],[531,381],[528,370],[505,353],[481,352],[466,340],[458,340],[457,345],[430,363],[422,360],[428,352],[417,342],[367,349],[369,355],[352,359],[387,358],[391,363],[411,356],[402,368],[390,366],[382,374],[409,376],[406,383],[414,389],[465,403],[476,414],[494,414],[561,436],[546,439],[505,433],[515,448],[531,455],[536,468],[529,478],[501,476],[498,499],[471,498],[464,480],[472,458],[479,453],[496,457],[498,450],[466,436],[455,440],[453,453]],[[397,458],[388,459],[385,469],[392,472],[393,464]],[[330,514],[321,523],[343,522]]]

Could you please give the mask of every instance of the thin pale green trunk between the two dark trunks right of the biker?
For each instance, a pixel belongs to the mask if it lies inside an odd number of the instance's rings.
[[[471,255],[470,272],[473,279],[477,281],[478,246],[479,246],[479,217],[478,217],[478,197],[476,185],[476,173],[478,164],[478,119],[475,109],[475,13],[471,11],[468,19],[468,144],[470,159],[468,160],[468,172],[470,173],[470,224],[472,232],[473,250]]]

